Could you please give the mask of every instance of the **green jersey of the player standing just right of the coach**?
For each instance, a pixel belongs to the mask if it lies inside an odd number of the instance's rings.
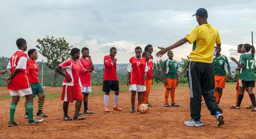
[[[218,58],[215,57],[213,59],[213,65],[214,65],[214,75],[226,76],[225,66],[229,65],[226,56],[220,54]]]

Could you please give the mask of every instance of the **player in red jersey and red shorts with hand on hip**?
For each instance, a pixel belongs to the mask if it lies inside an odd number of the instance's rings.
[[[63,80],[63,90],[62,90],[62,97],[61,100],[63,100],[63,112],[64,120],[72,120],[67,115],[68,111],[68,104],[69,102],[75,102],[75,115],[73,117],[74,120],[84,120],[85,118],[82,116],[79,116],[79,111],[81,108],[83,95],[81,91],[81,87],[79,85],[79,75],[80,75],[80,65],[78,62],[78,59],[80,58],[80,50],[78,48],[72,48],[70,51],[71,58],[65,60],[61,64],[59,64],[55,70],[63,75],[65,78]],[[63,72],[61,69],[65,69],[65,72]]]

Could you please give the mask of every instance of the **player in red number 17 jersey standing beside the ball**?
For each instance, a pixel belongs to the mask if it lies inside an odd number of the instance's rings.
[[[131,57],[127,66],[128,77],[127,77],[127,86],[129,86],[129,91],[132,91],[131,94],[131,102],[132,102],[132,110],[131,113],[135,112],[134,104],[135,104],[135,96],[136,91],[138,92],[138,106],[142,102],[142,92],[146,91],[146,83],[147,79],[147,60],[141,56],[142,49],[137,46],[135,48],[135,56]]]

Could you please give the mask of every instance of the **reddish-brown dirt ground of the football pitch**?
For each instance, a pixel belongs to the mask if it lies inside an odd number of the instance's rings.
[[[101,86],[93,87],[101,88]],[[62,88],[45,88],[46,95],[51,92],[61,92]],[[8,100],[0,101],[0,138],[255,138],[256,113],[244,109],[250,104],[245,94],[241,109],[230,109],[235,102],[235,85],[227,85],[223,90],[220,108],[223,110],[225,124],[217,127],[215,118],[210,115],[206,105],[202,105],[202,127],[189,127],[184,121],[190,119],[190,93],[188,87],[179,87],[176,90],[176,102],[181,107],[164,107],[165,88],[154,88],[150,92],[149,102],[152,104],[146,114],[130,113],[130,92],[121,91],[119,106],[122,112],[104,112],[102,96],[89,97],[88,108],[92,115],[83,115],[86,120],[64,121],[62,101],[60,98],[47,99],[44,113],[49,117],[42,123],[29,126],[24,118],[24,100],[21,100],[16,109],[15,120],[18,126],[8,127],[9,104]],[[254,92],[255,89],[254,89]],[[1,88],[0,95],[8,94],[8,90]],[[170,102],[171,99],[169,99]],[[114,93],[109,96],[109,106],[114,103]],[[135,101],[137,103],[137,100]],[[69,116],[73,117],[74,104],[69,105]],[[135,104],[135,107],[137,105]],[[81,111],[83,106],[81,107]],[[37,111],[37,100],[34,101],[34,113]],[[39,117],[37,117],[39,118]]]

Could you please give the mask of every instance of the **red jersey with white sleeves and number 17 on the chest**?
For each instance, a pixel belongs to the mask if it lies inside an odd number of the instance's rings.
[[[144,72],[148,71],[147,60],[144,57],[137,59],[136,56],[131,57],[127,66],[127,71],[131,72],[129,77],[130,84],[146,85],[144,80]]]

